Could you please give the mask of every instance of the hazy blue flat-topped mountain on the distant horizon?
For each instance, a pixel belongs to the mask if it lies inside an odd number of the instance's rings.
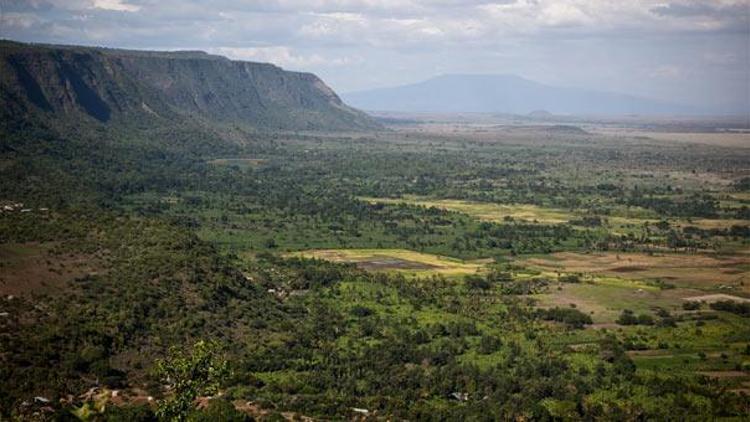
[[[365,110],[528,114],[692,114],[689,106],[624,94],[544,85],[515,75],[444,75],[393,88],[343,94]]]

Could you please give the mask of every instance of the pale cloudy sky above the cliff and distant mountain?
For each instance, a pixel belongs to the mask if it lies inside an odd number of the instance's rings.
[[[750,0],[0,0],[0,37],[204,50],[339,92],[450,73],[747,104]]]

